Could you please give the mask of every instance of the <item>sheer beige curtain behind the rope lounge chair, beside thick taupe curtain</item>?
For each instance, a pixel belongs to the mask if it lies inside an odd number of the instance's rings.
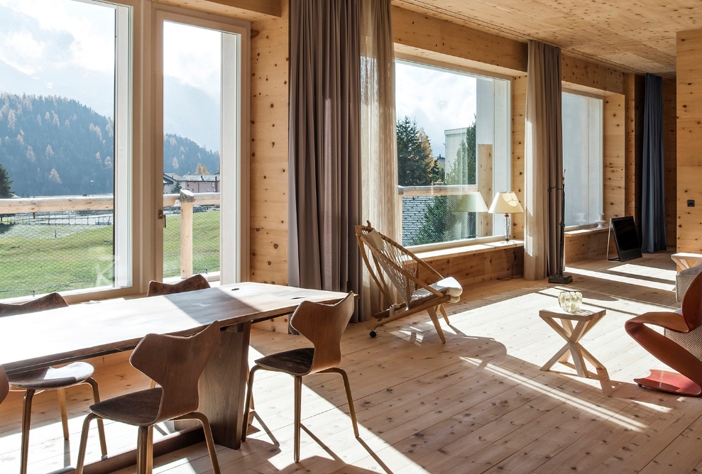
[[[399,241],[395,50],[390,0],[361,0],[361,162],[363,224],[371,221],[378,231]],[[379,300],[377,288],[364,269],[363,314],[378,312]]]

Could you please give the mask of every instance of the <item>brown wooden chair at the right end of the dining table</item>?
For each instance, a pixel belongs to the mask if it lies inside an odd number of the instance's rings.
[[[273,370],[290,374],[295,377],[295,462],[300,461],[300,404],[302,401],[302,377],[314,373],[338,373],[344,380],[346,399],[349,402],[349,414],[353,424],[353,434],[358,438],[356,411],[353,409],[353,398],[349,377],[339,368],[341,362],[341,335],[353,314],[353,293],[346,295],[336,304],[321,304],[303,301],[290,317],[290,326],[312,342],[314,348],[299,348],[266,355],[256,360],[248,375],[248,397],[246,411],[243,417],[243,436],[246,441],[248,428],[248,412],[253,390],[253,376],[259,369]]]

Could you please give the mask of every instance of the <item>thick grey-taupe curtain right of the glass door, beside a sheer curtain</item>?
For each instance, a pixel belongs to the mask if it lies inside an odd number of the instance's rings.
[[[290,1],[288,283],[361,292],[358,1]]]

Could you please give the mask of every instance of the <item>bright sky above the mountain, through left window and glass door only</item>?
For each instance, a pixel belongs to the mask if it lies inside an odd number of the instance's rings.
[[[114,76],[114,18],[111,6],[80,1],[0,0],[0,61],[43,82],[44,94],[73,97],[45,77]],[[164,35],[165,75],[219,96],[219,33],[166,23]],[[7,89],[1,77],[0,89]]]

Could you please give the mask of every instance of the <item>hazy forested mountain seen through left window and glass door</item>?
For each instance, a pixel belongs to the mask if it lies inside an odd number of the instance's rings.
[[[198,164],[219,170],[219,153],[189,138],[164,137],[164,171]],[[22,197],[109,194],[114,183],[114,122],[75,99],[0,94],[0,165]]]

